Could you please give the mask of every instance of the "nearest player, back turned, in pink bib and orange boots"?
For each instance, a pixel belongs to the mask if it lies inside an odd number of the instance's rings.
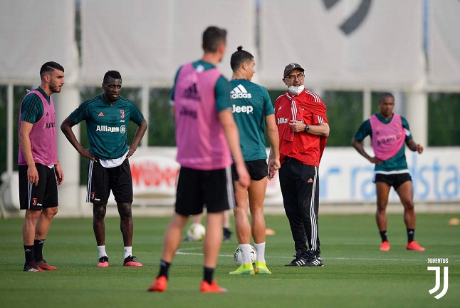
[[[231,155],[239,183],[250,184],[239,145],[239,133],[229,104],[229,83],[216,68],[226,50],[226,30],[210,26],[204,31],[202,60],[177,71],[172,103],[176,118],[177,162],[181,165],[172,221],[164,235],[160,272],[149,291],[167,289],[169,267],[179,248],[190,215],[207,208],[204,237],[203,293],[226,292],[213,279],[222,242],[224,210],[234,207]]]

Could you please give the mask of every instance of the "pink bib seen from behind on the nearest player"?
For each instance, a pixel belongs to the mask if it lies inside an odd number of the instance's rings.
[[[195,69],[184,65],[174,88],[177,162],[197,170],[223,169],[231,165],[229,145],[219,121],[214,88],[217,68]]]

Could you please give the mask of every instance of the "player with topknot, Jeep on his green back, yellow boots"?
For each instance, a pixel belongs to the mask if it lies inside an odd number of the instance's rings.
[[[247,188],[239,185],[235,170],[232,174],[236,190],[235,230],[241,247],[242,264],[230,274],[271,274],[265,261],[263,200],[267,188],[268,165],[264,131],[265,128],[268,129],[268,139],[273,151],[270,168],[278,170],[280,168],[279,138],[275,111],[266,88],[251,82],[256,65],[251,53],[239,46],[231,55],[230,65],[233,70],[230,81],[233,114],[239,129],[244,162],[251,175],[251,186]],[[248,197],[251,224],[248,217]],[[251,263],[251,234],[257,250],[254,268]]]

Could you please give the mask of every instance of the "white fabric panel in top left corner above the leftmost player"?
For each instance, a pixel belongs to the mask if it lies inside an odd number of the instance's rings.
[[[38,83],[43,63],[56,61],[76,78],[75,1],[7,0],[0,10],[0,80]]]

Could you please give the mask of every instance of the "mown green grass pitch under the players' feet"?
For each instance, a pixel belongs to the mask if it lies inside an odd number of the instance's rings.
[[[293,240],[283,215],[267,216],[266,260],[271,275],[233,276],[236,237],[221,247],[215,277],[226,294],[200,294],[199,243],[184,242],[169,273],[165,293],[147,292],[158,271],[170,217],[135,217],[133,252],[144,267],[122,267],[119,220],[106,219],[110,267],[96,267],[92,220],[56,218],[46,239],[46,260],[56,272],[22,272],[21,219],[0,220],[0,307],[459,307],[459,215],[417,215],[416,240],[425,252],[405,250],[402,215],[389,215],[390,252],[380,252],[373,215],[322,215],[324,267],[284,267]],[[232,222],[233,223],[233,222]],[[434,272],[427,258],[449,259],[449,291],[434,299]],[[441,265],[442,266],[442,265]]]

